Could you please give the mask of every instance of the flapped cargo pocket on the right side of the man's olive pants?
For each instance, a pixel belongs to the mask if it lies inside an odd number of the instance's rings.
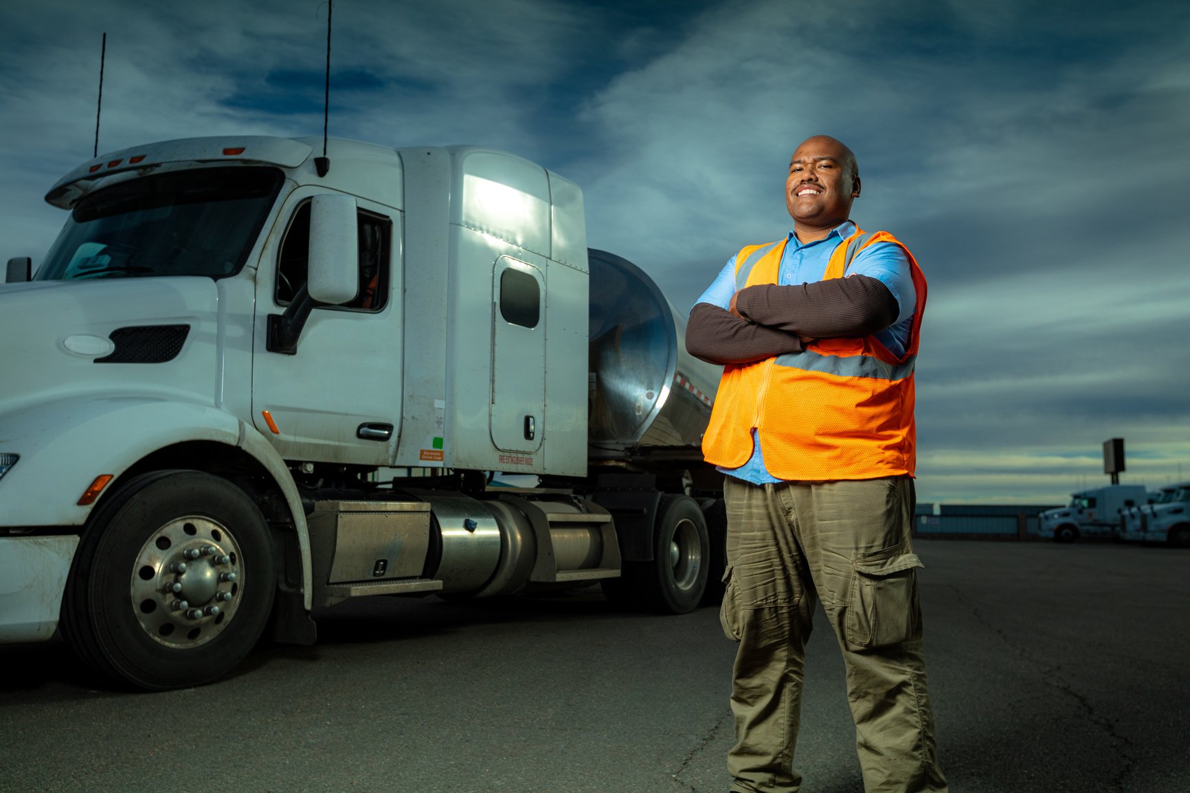
[[[852,561],[851,597],[844,618],[853,649],[900,644],[917,634],[916,554],[885,548]]]

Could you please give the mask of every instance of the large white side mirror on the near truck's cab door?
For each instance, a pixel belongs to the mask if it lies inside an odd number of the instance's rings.
[[[359,291],[359,232],[356,200],[324,193],[311,201],[309,296],[319,303],[340,306]]]

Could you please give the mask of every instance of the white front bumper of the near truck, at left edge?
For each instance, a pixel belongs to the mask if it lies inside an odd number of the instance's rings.
[[[0,643],[54,635],[77,546],[77,535],[0,537]]]

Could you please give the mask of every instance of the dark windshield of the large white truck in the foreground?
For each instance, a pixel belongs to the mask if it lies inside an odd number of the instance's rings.
[[[35,279],[234,275],[281,182],[276,169],[240,166],[113,184],[75,206]]]

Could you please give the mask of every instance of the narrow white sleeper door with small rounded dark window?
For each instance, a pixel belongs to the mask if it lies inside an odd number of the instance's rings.
[[[533,453],[545,433],[545,277],[502,256],[491,289],[491,442]]]

